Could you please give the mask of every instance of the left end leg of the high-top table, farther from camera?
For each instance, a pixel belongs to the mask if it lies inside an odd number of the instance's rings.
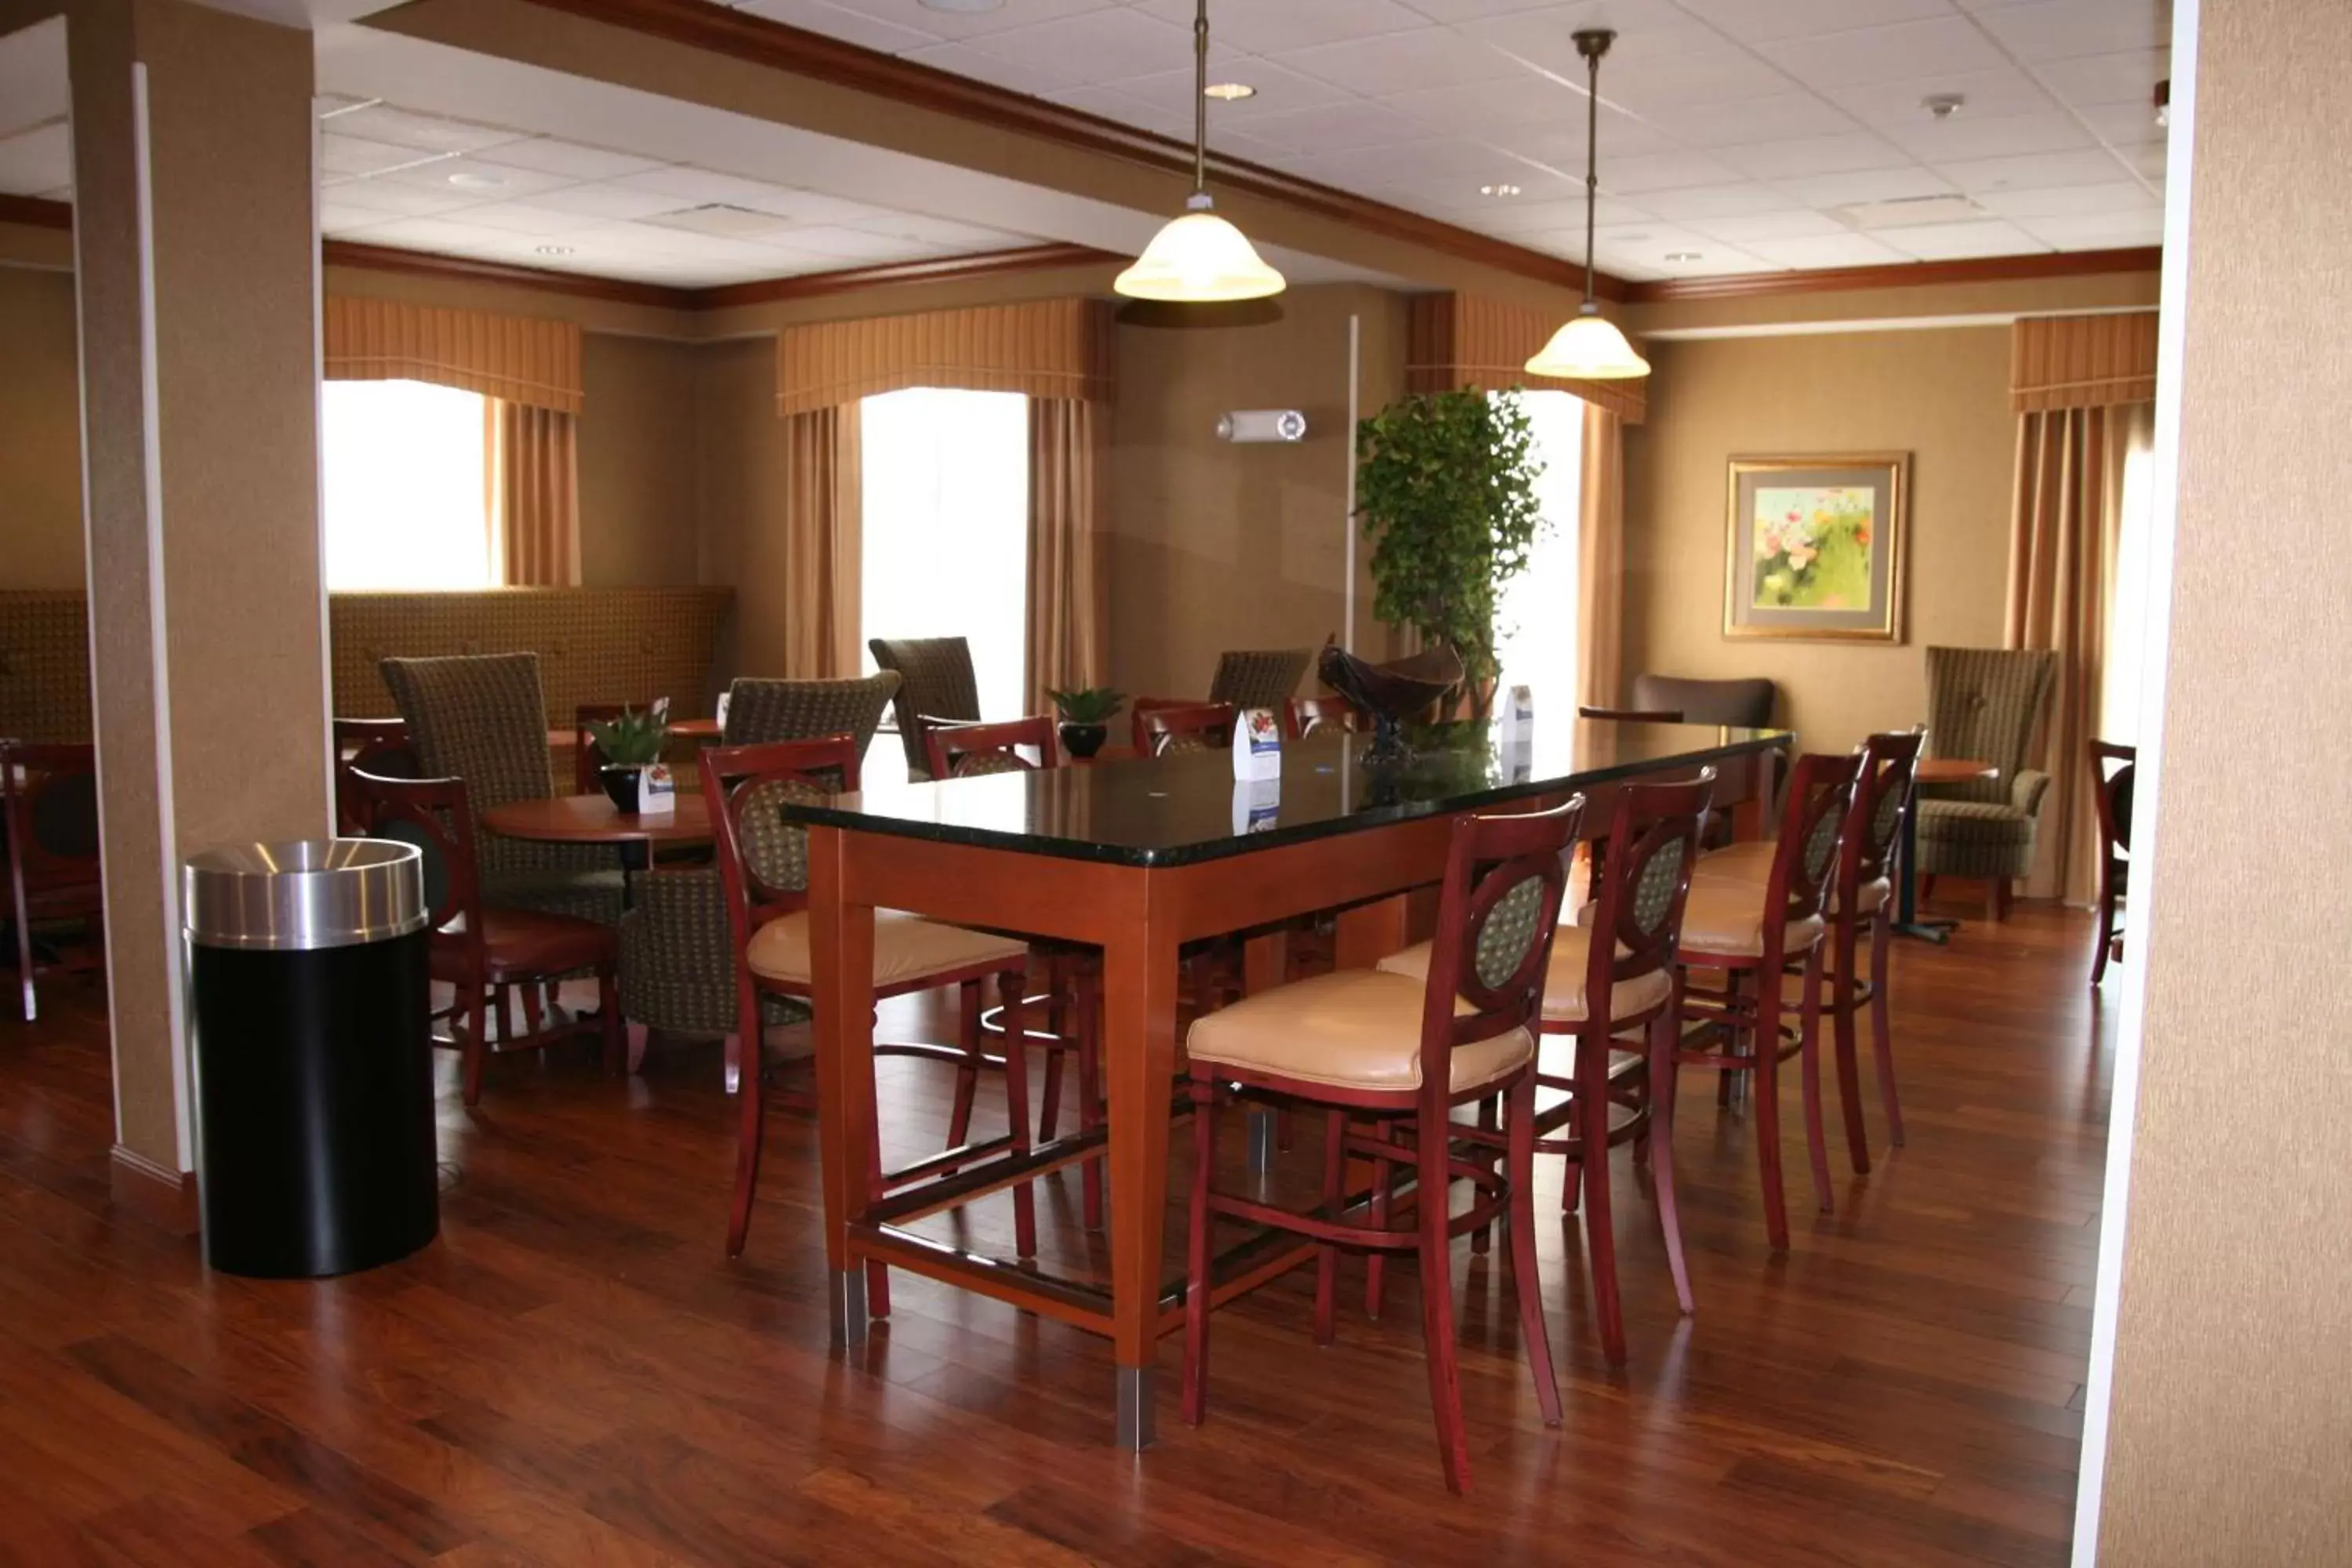
[[[849,835],[809,827],[809,1006],[816,1013],[816,1133],[826,1192],[826,1305],[833,1340],[866,1340],[866,1269],[849,1222],[866,1213],[875,1105],[875,912],[842,903]],[[757,1041],[748,1030],[746,1041]],[[757,1072],[757,1058],[746,1063]]]

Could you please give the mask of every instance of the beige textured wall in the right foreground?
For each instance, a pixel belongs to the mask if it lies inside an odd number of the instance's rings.
[[[2352,1561],[2352,978],[2331,943],[2352,860],[2345,59],[2352,7],[2204,7],[2171,668],[2131,886],[2145,1030],[2136,1126],[2117,1107],[2129,1208],[2110,1211],[2114,1568]]]

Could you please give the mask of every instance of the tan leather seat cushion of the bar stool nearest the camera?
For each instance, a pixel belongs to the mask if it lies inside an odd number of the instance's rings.
[[[1207,1013],[1185,1056],[1334,1088],[1421,1088],[1421,997],[1411,976],[1341,969]],[[1458,1046],[1454,1091],[1508,1077],[1534,1056],[1526,1030]]]

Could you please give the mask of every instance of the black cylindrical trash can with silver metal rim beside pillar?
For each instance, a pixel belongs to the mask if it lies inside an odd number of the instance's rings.
[[[181,870],[205,1262],[318,1279],[440,1229],[423,860],[238,844]]]

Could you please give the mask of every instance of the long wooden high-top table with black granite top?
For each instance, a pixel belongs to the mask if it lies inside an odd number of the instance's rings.
[[[1717,769],[1717,802],[1757,837],[1769,755],[1783,731],[1700,724],[1538,724],[1517,752],[1477,745],[1402,771],[1362,766],[1359,736],[1284,748],[1263,795],[1235,783],[1230,752],[1098,762],[943,783],[873,780],[863,795],[786,804],[809,827],[809,922],[816,1084],[826,1199],[826,1267],[837,1342],[866,1338],[866,1260],[995,1295],[1110,1335],[1117,1434],[1152,1439],[1152,1356],[1183,1324],[1169,1284],[1169,1093],[1176,1072],[1176,950],[1235,931],[1338,910],[1338,964],[1371,966],[1406,945],[1409,889],[1442,879],[1454,818],[1534,809],[1583,790],[1588,830],[1609,820],[1613,788],[1644,776]],[[875,910],[913,910],[967,926],[1089,943],[1103,950],[1108,1128],[1070,1133],[1025,1157],[868,1197],[875,1098]],[[1251,943],[1251,985],[1279,978],[1279,936]],[[915,1220],[1035,1180],[1108,1143],[1110,1281],[1056,1279],[1028,1262],[967,1253],[917,1234]],[[1296,1262],[1294,1241],[1242,1244],[1221,1258],[1216,1300]]]

